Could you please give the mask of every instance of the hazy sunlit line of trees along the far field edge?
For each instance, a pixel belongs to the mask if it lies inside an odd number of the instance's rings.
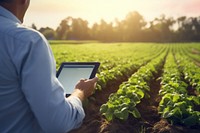
[[[81,18],[67,17],[56,30],[38,29],[49,40],[99,40],[103,42],[199,42],[200,16],[177,19],[161,15],[146,22],[141,14],[133,11],[125,19],[88,26]],[[32,28],[37,29],[33,24]]]

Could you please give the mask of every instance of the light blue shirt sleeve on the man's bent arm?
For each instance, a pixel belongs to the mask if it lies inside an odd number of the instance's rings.
[[[48,133],[79,127],[85,116],[82,103],[76,97],[65,98],[48,42],[39,34],[29,40],[18,41],[12,54],[22,91],[39,125]]]

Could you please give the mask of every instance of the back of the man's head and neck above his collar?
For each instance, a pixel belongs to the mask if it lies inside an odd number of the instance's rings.
[[[30,0],[0,0],[0,6],[12,12],[21,22],[29,7]]]

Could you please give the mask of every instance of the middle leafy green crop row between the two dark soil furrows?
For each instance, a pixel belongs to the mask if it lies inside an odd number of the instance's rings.
[[[107,103],[100,108],[100,112],[108,121],[114,118],[126,120],[129,114],[135,118],[140,117],[136,105],[142,98],[149,98],[149,82],[154,78],[154,74],[158,73],[158,68],[162,66],[165,53],[141,67],[127,82],[120,85],[116,93],[109,96]]]

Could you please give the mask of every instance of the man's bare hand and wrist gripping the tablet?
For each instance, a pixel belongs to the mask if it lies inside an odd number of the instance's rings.
[[[81,101],[88,98],[94,92],[98,78],[81,79],[75,86],[74,92],[71,96],[78,97]]]

